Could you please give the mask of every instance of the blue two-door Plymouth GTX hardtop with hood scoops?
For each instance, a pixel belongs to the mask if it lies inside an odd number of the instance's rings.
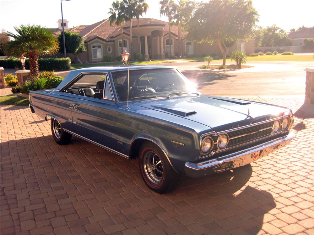
[[[73,70],[54,90],[30,91],[30,109],[51,118],[57,144],[75,135],[138,158],[143,180],[159,193],[171,191],[180,174],[240,167],[295,137],[289,108],[202,95],[170,66]]]

